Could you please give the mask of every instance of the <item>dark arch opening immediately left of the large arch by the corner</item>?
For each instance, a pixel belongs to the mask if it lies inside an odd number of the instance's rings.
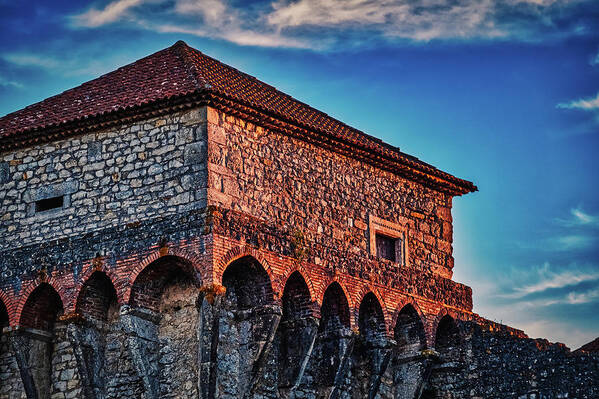
[[[96,270],[83,283],[77,295],[75,312],[85,318],[107,321],[109,314],[114,315],[118,297],[110,277]]]

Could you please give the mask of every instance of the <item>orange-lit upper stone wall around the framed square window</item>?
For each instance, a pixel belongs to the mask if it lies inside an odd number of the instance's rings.
[[[298,230],[329,268],[368,258],[381,218],[406,229],[408,267],[451,278],[450,195],[212,108],[208,140],[210,203]]]

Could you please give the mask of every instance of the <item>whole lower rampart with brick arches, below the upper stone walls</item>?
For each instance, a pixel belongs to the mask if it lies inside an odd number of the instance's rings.
[[[13,251],[0,399],[598,396],[597,355],[481,318],[467,287],[294,237],[209,209]]]

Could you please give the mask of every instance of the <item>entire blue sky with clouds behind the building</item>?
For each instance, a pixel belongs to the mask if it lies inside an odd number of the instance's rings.
[[[0,0],[0,114],[179,39],[474,181],[453,215],[475,311],[599,336],[599,3]]]

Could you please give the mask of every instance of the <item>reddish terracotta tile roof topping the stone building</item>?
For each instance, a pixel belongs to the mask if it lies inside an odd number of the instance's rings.
[[[385,162],[398,162],[411,170],[408,174],[415,173],[421,179],[436,182],[439,187],[451,187],[447,191],[454,194],[476,190],[471,182],[404,154],[399,148],[354,129],[182,41],[0,118],[0,150],[16,146],[14,143],[19,141],[25,142],[30,136],[39,140],[54,139],[56,134],[44,136],[51,130],[91,124],[112,114],[133,112],[144,106],[198,94],[211,96],[211,102],[226,100],[229,104],[318,132],[359,147]]]

